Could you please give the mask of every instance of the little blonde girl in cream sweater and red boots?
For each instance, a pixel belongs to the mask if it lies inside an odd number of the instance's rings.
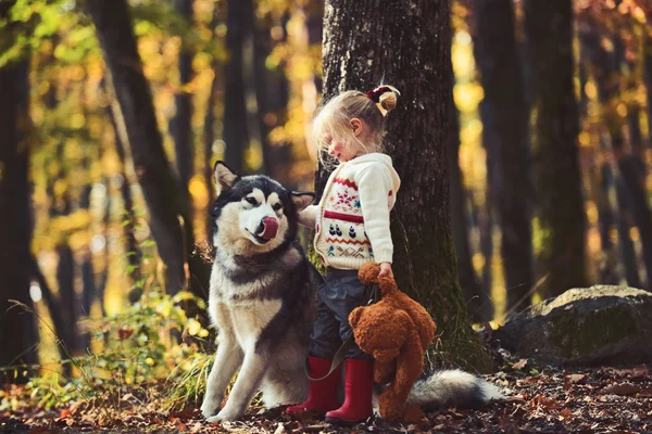
[[[380,276],[392,276],[389,212],[401,181],[391,158],[380,151],[385,116],[396,107],[399,94],[391,86],[366,93],[347,91],[330,100],[313,123],[319,158],[327,150],[340,163],[328,178],[319,204],[299,215],[302,225],[316,229],[315,250],[327,269],[309,346],[309,372],[314,379],[328,373],[335,353],[352,333],[349,314],[367,302],[358,269],[375,261],[380,263]],[[372,416],[373,362],[353,343],[347,353],[341,407],[339,367],[327,378],[311,381],[308,400],[287,412],[326,412],[328,422],[339,424],[364,421]]]

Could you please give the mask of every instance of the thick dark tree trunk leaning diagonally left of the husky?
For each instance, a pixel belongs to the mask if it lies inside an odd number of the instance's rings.
[[[179,217],[188,221],[178,183],[172,176],[163,141],[156,126],[149,84],[136,49],[125,0],[86,2],[97,29],[104,59],[111,71],[138,182],[150,212],[151,230],[159,255],[165,264],[165,286],[176,293],[186,288],[184,230]],[[116,119],[117,120],[117,119]]]

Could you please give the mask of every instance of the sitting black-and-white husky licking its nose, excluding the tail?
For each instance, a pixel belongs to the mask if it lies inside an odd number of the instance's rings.
[[[222,162],[214,171],[209,314],[220,344],[201,406],[209,422],[240,418],[258,390],[268,408],[306,398],[304,363],[321,280],[297,242],[297,213],[314,194],[261,175],[239,177]]]

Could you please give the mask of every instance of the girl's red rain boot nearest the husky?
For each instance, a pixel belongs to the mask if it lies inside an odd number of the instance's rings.
[[[326,375],[330,370],[330,359],[309,356],[308,367],[310,376],[319,379]],[[342,366],[340,365],[324,380],[311,380],[310,395],[305,403],[288,407],[286,412],[288,414],[297,414],[298,412],[311,410],[325,413],[328,410],[338,408],[339,400],[337,399],[337,388],[339,386],[341,370]]]

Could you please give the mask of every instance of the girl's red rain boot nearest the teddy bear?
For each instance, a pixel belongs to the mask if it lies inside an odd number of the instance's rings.
[[[374,360],[348,359],[344,404],[326,413],[326,422],[354,425],[372,416]]]

